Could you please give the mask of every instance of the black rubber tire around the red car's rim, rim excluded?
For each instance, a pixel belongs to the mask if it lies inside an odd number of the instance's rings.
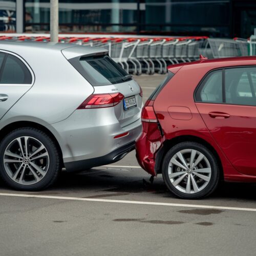
[[[198,193],[195,194],[182,193],[177,188],[175,188],[175,186],[170,182],[168,177],[168,166],[170,159],[172,159],[172,157],[177,152],[185,149],[197,150],[204,154],[207,160],[209,161],[211,167],[211,178],[208,185],[202,191],[199,191]],[[216,157],[214,156],[214,154],[212,154],[211,151],[208,150],[207,147],[197,142],[181,142],[170,148],[170,150],[166,153],[162,164],[162,175],[167,188],[177,197],[184,199],[199,199],[208,196],[216,189],[219,182],[220,172]]]

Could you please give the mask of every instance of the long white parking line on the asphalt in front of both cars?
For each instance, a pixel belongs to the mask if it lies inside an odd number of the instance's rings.
[[[91,202],[105,202],[105,203],[122,203],[122,204],[144,204],[144,205],[159,205],[159,206],[174,206],[174,207],[204,208],[204,209],[256,211],[256,208],[227,207],[227,206],[199,205],[199,204],[173,204],[173,203],[160,203],[160,202],[110,200],[110,199],[80,198],[80,197],[57,197],[57,196],[41,196],[41,195],[9,194],[9,193],[0,193],[0,196],[60,199],[60,200],[73,200],[73,201],[91,201]]]

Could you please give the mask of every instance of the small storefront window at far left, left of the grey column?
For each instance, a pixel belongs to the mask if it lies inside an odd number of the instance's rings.
[[[0,31],[15,32],[16,30],[16,0],[1,0]]]

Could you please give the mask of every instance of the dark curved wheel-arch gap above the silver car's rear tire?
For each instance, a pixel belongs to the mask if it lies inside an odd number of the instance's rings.
[[[57,150],[58,150],[58,152],[60,154],[60,159],[62,159],[62,161],[63,161],[61,147],[59,145],[58,140],[54,136],[54,134],[46,126],[44,126],[42,124],[39,124],[39,123],[36,123],[36,122],[32,122],[32,121],[15,121],[15,122],[7,124],[6,126],[4,126],[0,130],[0,142],[10,132],[12,132],[12,131],[14,131],[14,130],[16,130],[18,128],[23,128],[23,127],[24,128],[25,127],[32,127],[32,128],[38,129],[38,130],[40,130],[42,132],[45,132],[55,142]],[[63,166],[63,162],[62,162],[62,166]]]

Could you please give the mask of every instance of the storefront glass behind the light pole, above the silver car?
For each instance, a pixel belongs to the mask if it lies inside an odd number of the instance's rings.
[[[40,32],[50,22],[50,3],[26,0],[26,32]],[[137,0],[59,0],[60,32],[131,32],[136,30]]]

